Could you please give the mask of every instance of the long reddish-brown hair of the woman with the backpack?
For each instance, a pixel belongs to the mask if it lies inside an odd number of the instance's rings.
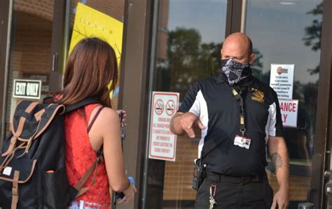
[[[69,55],[65,70],[61,93],[64,105],[95,97],[104,106],[111,107],[109,95],[118,82],[118,65],[109,43],[98,38],[82,39]]]

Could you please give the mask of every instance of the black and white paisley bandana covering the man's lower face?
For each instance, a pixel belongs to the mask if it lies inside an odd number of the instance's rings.
[[[221,71],[227,76],[228,83],[233,86],[242,83],[251,76],[250,65],[237,62],[234,59],[221,60]]]

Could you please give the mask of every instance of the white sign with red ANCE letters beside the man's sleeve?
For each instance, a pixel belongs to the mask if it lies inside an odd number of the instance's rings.
[[[279,99],[282,125],[296,128],[298,126],[298,100]]]

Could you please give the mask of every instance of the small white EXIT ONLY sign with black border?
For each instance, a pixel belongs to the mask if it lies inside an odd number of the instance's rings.
[[[15,79],[13,97],[39,100],[41,98],[41,81]]]

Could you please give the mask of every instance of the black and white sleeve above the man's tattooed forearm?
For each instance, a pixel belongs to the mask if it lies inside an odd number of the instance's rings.
[[[277,93],[273,90],[272,93],[273,100],[270,104],[269,121],[268,121],[268,135],[272,137],[282,137],[283,136],[283,126],[282,126],[282,114],[280,112],[279,100]]]

